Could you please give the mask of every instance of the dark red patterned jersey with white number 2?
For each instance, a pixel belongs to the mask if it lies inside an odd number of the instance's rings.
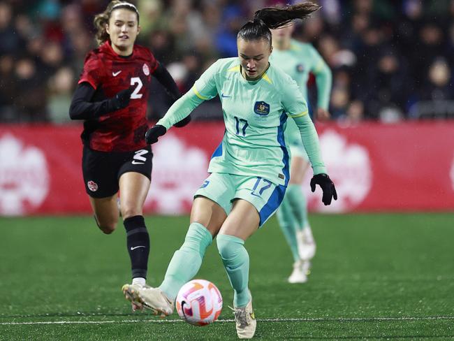
[[[85,145],[101,152],[129,152],[146,146],[149,85],[157,67],[152,52],[140,45],[134,45],[129,57],[117,55],[108,41],[88,53],[79,84],[89,82],[96,89],[92,101],[109,99],[129,87],[134,91],[126,108],[84,122]]]

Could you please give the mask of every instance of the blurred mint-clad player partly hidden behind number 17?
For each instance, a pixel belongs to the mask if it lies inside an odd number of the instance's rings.
[[[328,106],[332,85],[332,73],[321,55],[309,43],[301,43],[292,38],[295,25],[272,29],[273,52],[270,62],[295,80],[302,96],[307,99],[307,80],[313,73],[317,86],[317,119],[328,119]],[[309,115],[312,110],[309,105]],[[315,254],[315,241],[307,219],[307,201],[302,192],[302,181],[309,168],[309,159],[302,145],[298,126],[290,119],[287,124],[286,138],[291,150],[290,181],[279,209],[279,226],[290,246],[293,255],[293,272],[288,277],[289,283],[307,282],[311,266],[310,260]]]

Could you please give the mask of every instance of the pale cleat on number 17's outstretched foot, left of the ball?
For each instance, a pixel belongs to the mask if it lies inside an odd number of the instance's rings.
[[[125,284],[122,290],[128,300],[152,310],[156,315],[168,316],[173,313],[173,303],[159,288],[142,286],[136,291],[132,285]]]

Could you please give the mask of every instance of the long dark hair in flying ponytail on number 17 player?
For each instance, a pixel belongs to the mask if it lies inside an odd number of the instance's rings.
[[[243,25],[238,31],[237,38],[245,41],[266,39],[271,45],[270,29],[278,29],[295,19],[304,20],[310,17],[320,6],[312,2],[303,2],[284,7],[265,7],[254,13],[254,20]]]

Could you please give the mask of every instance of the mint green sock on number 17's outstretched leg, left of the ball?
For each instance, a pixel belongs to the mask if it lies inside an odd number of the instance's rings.
[[[175,300],[181,287],[197,274],[205,251],[211,245],[212,240],[210,231],[202,224],[189,225],[184,243],[173,254],[166,276],[159,286],[159,289],[166,293],[170,300]]]

